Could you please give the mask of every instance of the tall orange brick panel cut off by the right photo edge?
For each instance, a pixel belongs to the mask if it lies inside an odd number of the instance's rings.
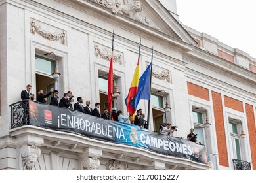
[[[251,146],[251,159],[253,163],[253,169],[256,170],[256,127],[254,120],[253,106],[245,103],[246,118],[248,125],[249,142]]]

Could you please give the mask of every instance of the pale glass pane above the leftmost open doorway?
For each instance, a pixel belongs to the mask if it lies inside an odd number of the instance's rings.
[[[35,55],[35,69],[43,73],[52,74],[54,72],[54,61]]]

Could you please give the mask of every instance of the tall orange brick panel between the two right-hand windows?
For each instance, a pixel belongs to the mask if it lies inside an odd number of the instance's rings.
[[[223,105],[221,101],[221,94],[217,92],[211,92],[213,97],[213,112],[215,118],[215,128],[217,133],[217,144],[219,154],[219,164],[224,167],[228,167],[228,152],[226,150],[226,135],[224,129],[223,118]]]

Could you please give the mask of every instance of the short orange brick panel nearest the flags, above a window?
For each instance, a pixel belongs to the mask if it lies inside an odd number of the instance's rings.
[[[196,84],[192,84],[191,82],[187,82],[188,84],[188,94],[193,95],[195,97],[199,97],[201,99],[205,99],[209,101],[209,90],[207,88],[203,88],[202,86],[198,86]]]

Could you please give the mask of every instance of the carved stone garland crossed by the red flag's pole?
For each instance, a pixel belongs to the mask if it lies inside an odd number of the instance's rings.
[[[107,48],[99,48],[98,44],[95,44],[95,56],[100,58],[106,59],[110,61],[112,55],[112,50],[107,49]],[[122,65],[122,58],[123,55],[121,53],[119,54],[113,54],[113,62],[114,63],[119,63]]]

